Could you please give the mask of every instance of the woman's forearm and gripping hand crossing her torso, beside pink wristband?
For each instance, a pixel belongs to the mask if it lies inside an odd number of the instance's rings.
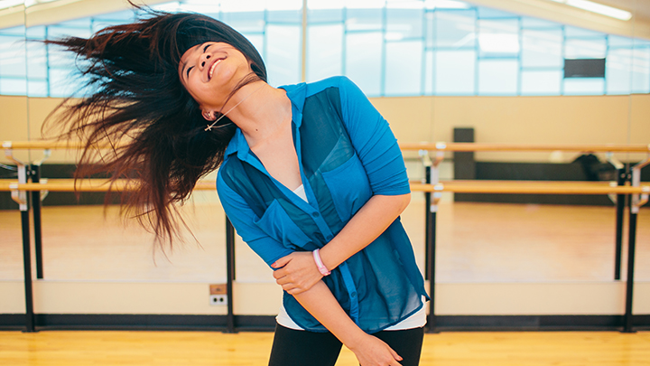
[[[320,249],[320,258],[325,267],[330,270],[338,267],[366,248],[395,221],[410,201],[410,193],[371,197],[343,230]],[[310,289],[322,278],[311,252],[294,252],[278,259],[272,267],[280,268],[274,271],[277,284],[294,296]]]

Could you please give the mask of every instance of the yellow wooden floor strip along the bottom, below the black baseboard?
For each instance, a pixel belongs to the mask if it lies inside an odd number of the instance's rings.
[[[263,366],[272,333],[0,332],[6,366]],[[357,365],[344,348],[337,366]],[[421,366],[650,365],[650,333],[426,334]]]

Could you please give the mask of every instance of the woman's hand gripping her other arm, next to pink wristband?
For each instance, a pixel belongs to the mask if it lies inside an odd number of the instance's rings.
[[[316,267],[311,251],[296,251],[275,261],[271,267],[275,282],[291,295],[307,291],[316,285],[322,275]]]

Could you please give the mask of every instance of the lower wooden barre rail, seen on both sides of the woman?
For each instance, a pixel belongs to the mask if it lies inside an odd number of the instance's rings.
[[[78,192],[107,192],[106,179],[87,179],[79,181]],[[129,189],[126,180],[114,183],[114,191]],[[195,191],[216,190],[215,181],[200,181]],[[609,185],[608,182],[558,182],[558,181],[441,181],[438,184],[412,183],[413,192],[458,192],[458,193],[512,193],[512,194],[648,194],[650,185]],[[0,181],[0,191],[49,191],[74,192],[71,179],[51,179],[47,183],[17,183]]]

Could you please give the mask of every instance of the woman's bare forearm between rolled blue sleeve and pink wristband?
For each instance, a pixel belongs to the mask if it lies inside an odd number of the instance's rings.
[[[376,195],[352,217],[339,234],[322,249],[320,258],[330,270],[364,249],[404,211],[411,194]]]

